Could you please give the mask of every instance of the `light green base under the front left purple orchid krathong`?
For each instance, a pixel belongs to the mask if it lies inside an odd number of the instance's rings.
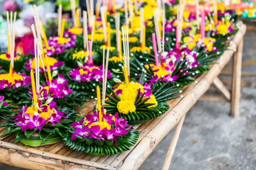
[[[23,138],[20,140],[20,143],[23,143],[24,145],[27,146],[32,146],[32,147],[38,147],[38,146],[44,146],[44,145],[51,145],[54,143],[58,143],[61,141],[61,136],[58,134],[50,134],[48,138],[44,140],[44,142],[40,139],[40,136],[38,133],[34,133],[31,135],[30,138]]]

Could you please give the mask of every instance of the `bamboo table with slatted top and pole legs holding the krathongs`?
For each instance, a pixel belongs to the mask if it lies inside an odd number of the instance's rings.
[[[115,155],[91,156],[66,147],[64,142],[36,148],[25,146],[22,143],[14,144],[15,135],[10,135],[0,139],[0,162],[33,170],[138,169],[156,145],[176,126],[177,128],[164,163],[163,169],[167,170],[171,163],[186,113],[197,102],[199,97],[207,91],[212,82],[226,97],[229,97],[229,100],[231,99],[231,114],[234,117],[238,117],[243,36],[246,32],[245,25],[240,24],[240,27],[241,29],[233,37],[232,43],[230,43],[230,49],[237,49],[236,52],[234,50],[226,50],[220,57],[219,64],[212,65],[208,72],[197,77],[196,82],[184,87],[182,98],[167,102],[171,108],[164,115],[133,127],[140,131],[140,137],[136,145],[131,147],[131,150]],[[233,84],[232,93],[230,94],[217,76],[233,54],[235,54],[233,57]],[[87,102],[85,103],[85,108],[79,108],[77,111],[87,114],[92,112],[95,104],[95,101]],[[4,133],[4,130],[5,128],[0,128],[0,135]]]

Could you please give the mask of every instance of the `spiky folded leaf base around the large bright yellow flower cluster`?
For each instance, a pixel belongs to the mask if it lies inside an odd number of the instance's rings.
[[[167,87],[167,88],[165,88]],[[108,88],[107,92],[111,95],[106,95],[108,100],[105,101],[105,109],[110,114],[114,115],[118,112],[118,115],[121,118],[125,118],[128,121],[128,125],[138,125],[140,123],[145,122],[146,120],[154,119],[162,114],[164,114],[168,109],[169,106],[166,104],[166,100],[172,100],[178,98],[177,94],[180,92],[180,88],[177,86],[169,86],[169,83],[159,84],[155,82],[152,86],[152,94],[156,97],[157,105],[154,107],[150,107],[155,105],[154,103],[145,103],[149,98],[143,99],[145,93],[140,96],[141,89],[138,90],[138,94],[135,100],[136,111],[129,112],[128,114],[123,114],[118,111],[118,102],[120,101],[120,97],[116,95],[116,93],[111,89]]]

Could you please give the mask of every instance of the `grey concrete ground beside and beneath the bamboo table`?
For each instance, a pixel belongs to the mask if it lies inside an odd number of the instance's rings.
[[[256,59],[256,37],[245,37],[243,61]],[[256,72],[256,65],[243,67]],[[228,79],[225,77],[225,79]],[[256,81],[256,77],[243,77]],[[213,88],[211,92],[215,91]],[[241,116],[229,117],[228,102],[197,102],[187,113],[170,169],[256,170],[256,88],[242,88]],[[172,130],[140,170],[161,170],[172,140]],[[22,170],[0,163],[0,170]]]

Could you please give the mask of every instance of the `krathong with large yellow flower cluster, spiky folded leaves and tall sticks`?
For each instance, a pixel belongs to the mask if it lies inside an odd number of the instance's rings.
[[[128,37],[126,29],[123,29],[123,35]],[[128,38],[125,40],[127,45]],[[105,108],[110,114],[118,112],[119,117],[128,120],[129,125],[136,125],[164,114],[169,109],[164,101],[177,98],[178,96],[175,95],[180,92],[180,88],[172,86],[164,89],[167,83],[161,87],[159,87],[159,82],[145,83],[144,74],[140,76],[139,82],[130,82],[130,61],[127,46],[125,46],[124,51],[123,74],[125,84],[120,84],[114,90],[109,86]]]

